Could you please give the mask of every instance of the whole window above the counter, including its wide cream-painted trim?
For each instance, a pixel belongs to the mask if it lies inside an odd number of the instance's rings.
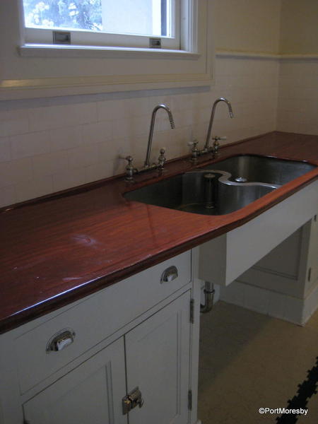
[[[37,0],[37,2],[0,0],[0,24],[1,28],[6,29],[7,35],[6,60],[1,64],[1,100],[211,84],[214,1],[165,0],[166,11],[160,1],[160,38],[176,40],[179,32],[180,41],[177,49],[174,47],[150,49],[148,35],[125,35],[107,33],[100,29],[78,28],[76,25],[80,21],[94,27],[101,25],[97,18],[92,18],[92,13],[82,13],[80,18],[79,11],[77,13],[77,9],[74,8],[76,4],[80,6],[90,4],[91,0],[70,2],[69,6],[74,6],[71,9],[67,8],[68,13],[72,12],[68,15],[68,19],[78,29],[71,29],[71,45],[54,45],[52,44],[54,28],[62,32],[70,25],[62,23],[62,26],[41,28],[40,23],[47,19],[44,12],[48,9],[45,9],[45,6],[56,4],[57,1],[58,5],[62,5],[69,0]],[[102,6],[105,0],[99,1]],[[122,5],[124,0],[107,1],[110,1],[110,4],[113,2]],[[40,6],[37,6],[38,4]],[[136,6],[137,1],[131,0],[131,4]],[[30,7],[31,13],[35,13],[33,10],[37,6],[37,17],[29,16],[30,11],[25,7],[25,16],[28,19],[26,27],[23,6]],[[122,7],[120,6],[119,10],[122,10]],[[129,16],[129,13],[125,12],[125,16]],[[158,16],[156,19],[158,28]],[[165,30],[167,35],[163,35]],[[35,31],[35,36],[31,37],[29,31]],[[157,33],[157,30],[154,30],[154,33]],[[81,35],[92,37],[92,40],[76,40],[76,37]],[[135,48],[134,44],[126,44],[125,47],[124,42],[117,41],[111,44],[110,41],[100,40],[98,44],[95,40],[95,37],[105,36],[127,37],[130,41],[146,37],[147,42],[144,44],[145,47]],[[18,46],[17,40],[20,42]]]

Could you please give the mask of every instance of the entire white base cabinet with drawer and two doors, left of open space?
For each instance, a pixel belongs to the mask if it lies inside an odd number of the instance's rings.
[[[2,334],[0,424],[196,423],[193,280],[192,252],[184,252]],[[73,337],[50,351],[61,334]],[[136,387],[143,406],[124,413]]]

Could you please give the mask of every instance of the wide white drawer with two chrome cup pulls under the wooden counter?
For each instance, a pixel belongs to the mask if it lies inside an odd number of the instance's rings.
[[[166,271],[166,272],[165,272]],[[162,278],[164,274],[164,278]],[[161,280],[161,281],[160,281]],[[35,328],[16,338],[21,394],[71,363],[103,339],[164,300],[191,280],[191,252],[110,285],[80,303],[48,319],[35,320]],[[75,334],[73,341],[66,331]],[[49,351],[54,336],[64,332]]]

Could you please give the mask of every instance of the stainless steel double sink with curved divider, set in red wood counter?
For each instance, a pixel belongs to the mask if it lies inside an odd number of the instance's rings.
[[[202,215],[237,211],[314,165],[241,155],[124,194],[127,200]]]

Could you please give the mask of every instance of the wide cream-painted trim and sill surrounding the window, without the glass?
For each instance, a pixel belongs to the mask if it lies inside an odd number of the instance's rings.
[[[0,24],[8,36],[0,100],[211,86],[214,2],[181,1],[188,16],[182,50],[25,45],[22,1],[3,4]]]

